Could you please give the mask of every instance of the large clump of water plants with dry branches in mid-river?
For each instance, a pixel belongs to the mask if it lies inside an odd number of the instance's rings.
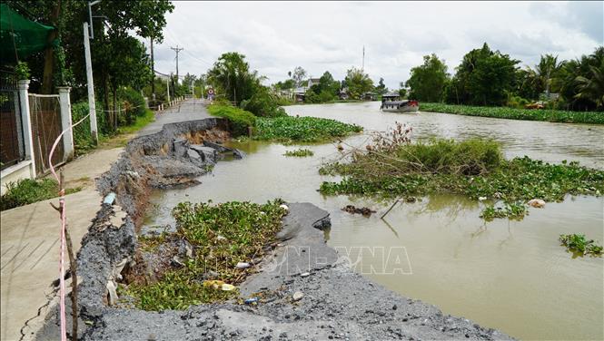
[[[501,209],[488,206],[482,212],[484,219],[521,218],[526,209],[520,206],[532,199],[561,201],[567,194],[599,196],[604,192],[604,171],[581,167],[578,162],[550,164],[526,156],[505,160],[500,146],[492,141],[411,143],[404,129],[398,131],[402,133],[379,135],[368,151],[352,151],[350,163],[323,166],[322,174],[344,178],[323,182],[320,191],[385,198],[446,192],[506,205]]]

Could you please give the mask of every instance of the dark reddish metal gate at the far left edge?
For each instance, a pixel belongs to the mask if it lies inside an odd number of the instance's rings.
[[[25,160],[19,92],[14,73],[0,72],[0,169]]]

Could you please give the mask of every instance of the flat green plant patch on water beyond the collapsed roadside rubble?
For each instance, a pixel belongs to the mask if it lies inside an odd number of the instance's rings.
[[[286,116],[272,119],[258,118],[253,138],[262,141],[322,142],[361,131],[362,128],[356,124],[317,117]]]

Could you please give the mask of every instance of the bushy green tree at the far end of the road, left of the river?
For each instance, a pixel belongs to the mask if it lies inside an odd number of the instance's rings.
[[[251,71],[245,55],[236,52],[221,55],[208,71],[208,78],[237,106],[251,98],[260,85],[258,72]]]

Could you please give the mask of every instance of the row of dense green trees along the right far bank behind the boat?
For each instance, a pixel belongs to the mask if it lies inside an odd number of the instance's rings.
[[[424,56],[405,85],[420,102],[524,108],[539,101],[549,109],[604,110],[604,46],[575,60],[543,54],[534,67],[519,64],[485,43],[465,54],[452,75],[436,54]]]

